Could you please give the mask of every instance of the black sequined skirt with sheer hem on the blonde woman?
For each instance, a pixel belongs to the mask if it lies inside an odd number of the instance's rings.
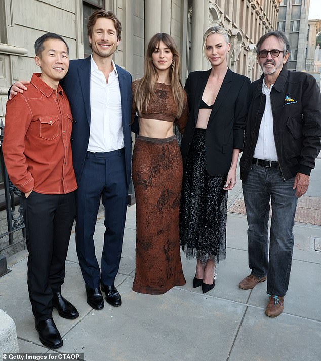
[[[206,171],[205,133],[205,129],[195,129],[180,204],[180,245],[186,258],[201,263],[226,258],[226,177],[213,177]]]

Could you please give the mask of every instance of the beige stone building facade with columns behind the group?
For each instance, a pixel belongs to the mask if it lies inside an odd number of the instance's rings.
[[[221,25],[229,32],[230,68],[252,80],[258,78],[260,68],[256,62],[255,44],[263,33],[277,27],[279,2],[1,0],[0,122],[4,122],[10,85],[18,79],[30,79],[31,74],[38,71],[33,59],[35,39],[45,32],[56,32],[66,39],[70,47],[70,59],[88,56],[90,48],[86,19],[98,7],[114,11],[122,22],[122,42],[115,53],[118,65],[126,68],[134,79],[141,77],[146,44],[156,32],[167,32],[173,36],[182,54],[184,83],[190,71],[209,68],[208,61],[202,55],[202,38],[205,30],[213,25]]]

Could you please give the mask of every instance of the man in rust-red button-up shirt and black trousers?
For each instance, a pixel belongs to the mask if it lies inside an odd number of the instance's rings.
[[[27,230],[28,290],[40,341],[58,348],[63,342],[53,321],[79,316],[61,296],[65,260],[75,218],[70,135],[72,116],[59,81],[69,67],[68,46],[49,33],[35,42],[35,62],[28,92],[8,101],[3,153],[9,177],[22,194]]]

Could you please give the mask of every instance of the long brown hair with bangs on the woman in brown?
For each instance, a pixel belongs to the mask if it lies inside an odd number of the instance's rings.
[[[184,90],[180,78],[180,55],[173,38],[165,32],[155,34],[148,43],[144,63],[144,76],[138,84],[135,93],[135,103],[138,113],[142,114],[147,110],[150,100],[154,101],[156,98],[155,90],[158,74],[152,62],[152,54],[155,49],[159,47],[161,41],[164,42],[173,54],[173,62],[170,67],[170,81],[174,103],[177,104],[176,118],[179,118],[182,115],[185,102]]]

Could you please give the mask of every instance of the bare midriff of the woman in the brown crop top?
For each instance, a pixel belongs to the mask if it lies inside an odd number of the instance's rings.
[[[173,122],[139,118],[139,135],[149,138],[168,138],[173,135]]]

